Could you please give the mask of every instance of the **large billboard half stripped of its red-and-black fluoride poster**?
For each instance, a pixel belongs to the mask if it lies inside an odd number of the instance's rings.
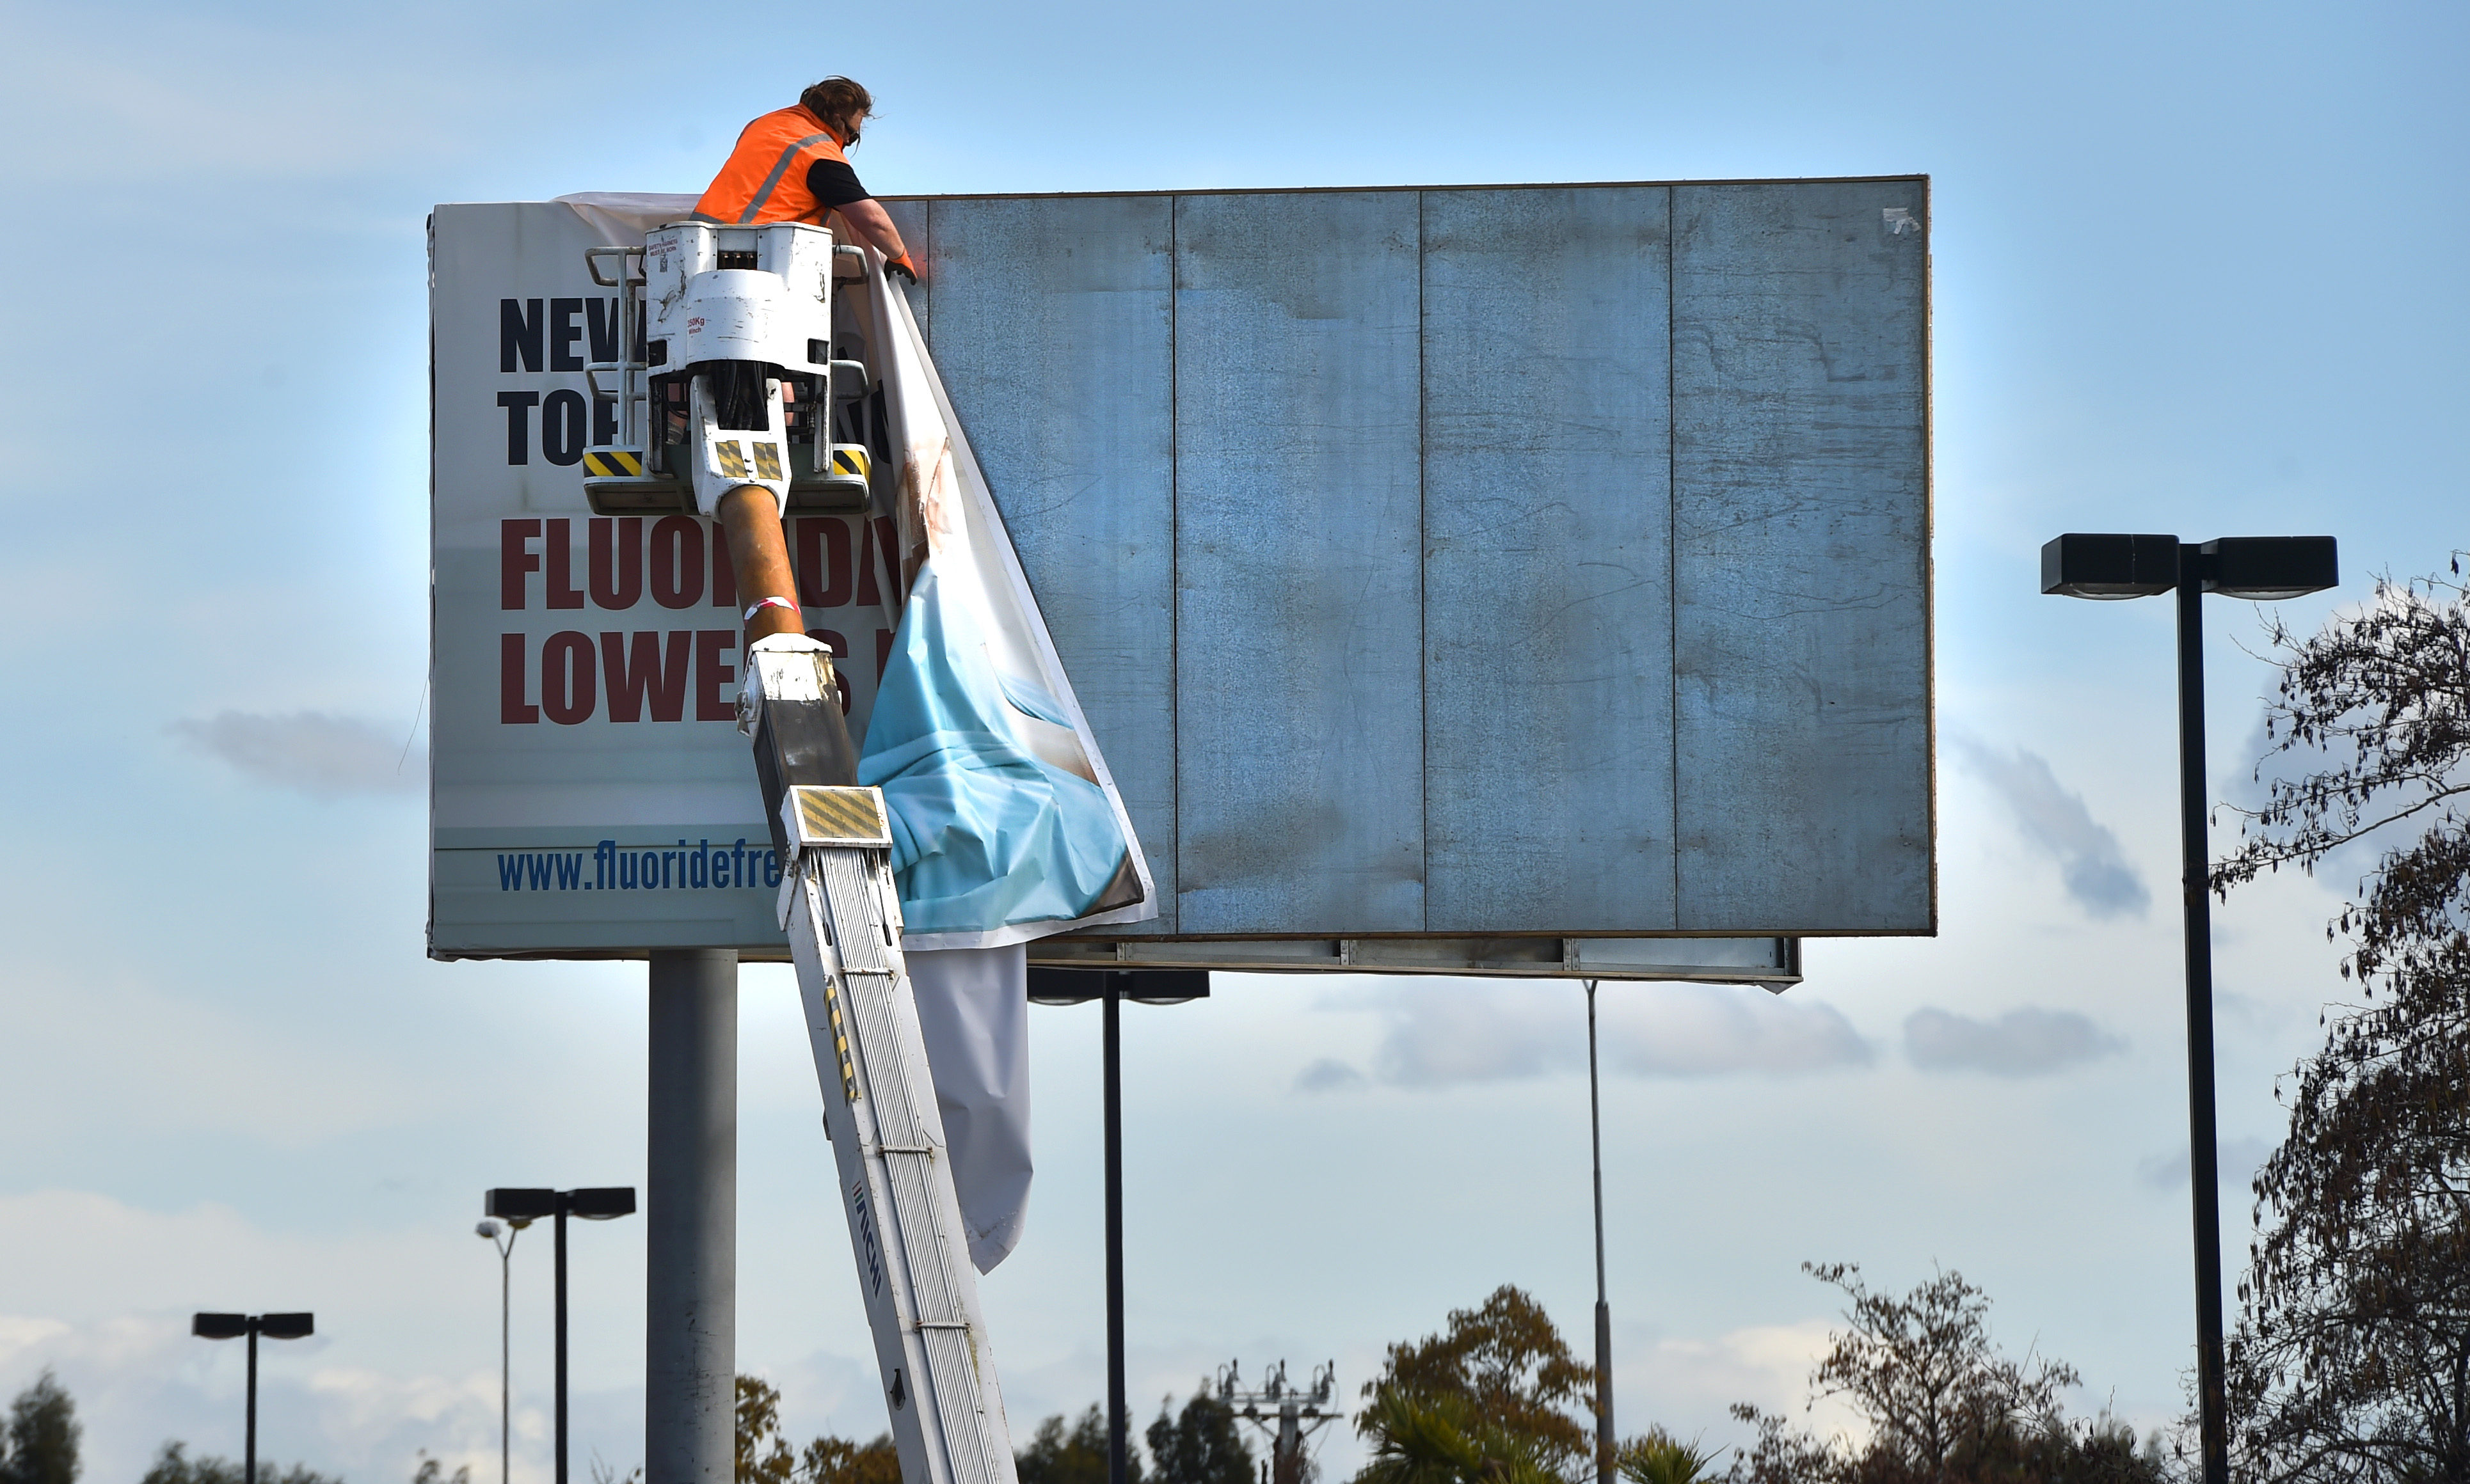
[[[1924,178],[887,207],[1158,891],[1055,961],[1934,931]],[[724,548],[583,501],[620,235],[432,217],[437,956],[781,956]],[[879,521],[790,521],[855,728]]]

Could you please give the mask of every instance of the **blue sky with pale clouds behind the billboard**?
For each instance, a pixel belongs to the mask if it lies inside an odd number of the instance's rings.
[[[2035,593],[2058,531],[2463,528],[2455,5],[30,5],[0,27],[0,1393],[86,1479],[262,1449],[496,1469],[489,1185],[642,1185],[645,973],[427,963],[425,259],[435,202],[699,190],[825,72],[872,190],[1932,175],[1936,938],[1808,980],[1608,985],[1618,1417],[1734,1444],[1838,1296],[1959,1269],[2077,1410],[2191,1361],[2171,612]],[[2453,511],[2450,516],[2445,511]],[[2211,788],[2253,798],[2263,615],[2211,605]],[[2216,849],[2233,827],[2216,832]],[[2346,879],[2218,914],[2225,1249],[2275,1077],[2342,998]],[[1593,1301],[1573,983],[1235,978],[1126,1012],[1136,1420],[1499,1284]],[[1032,1015],[1037,1188],[983,1284],[1015,1430],[1104,1390],[1097,1010]],[[739,1365],[874,1435],[785,970],[741,995]],[[509,1264],[514,1477],[548,1479],[548,1252]],[[642,1459],[642,1222],[573,1237],[576,1474]],[[1840,1415],[1818,1412],[1820,1425]],[[1331,1477],[1361,1444],[1324,1442]]]

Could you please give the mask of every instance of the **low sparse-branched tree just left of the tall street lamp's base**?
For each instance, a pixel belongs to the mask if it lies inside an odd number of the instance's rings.
[[[2070,1425],[2058,1393],[2077,1385],[2062,1361],[2008,1361],[1988,1331],[1988,1294],[1941,1272],[1904,1296],[1875,1294],[1850,1262],[1801,1264],[1843,1289],[1850,1328],[1828,1336],[1811,1370],[1815,1398],[1843,1398],[1870,1422],[1853,1447],[1793,1430],[1751,1405],[1759,1430],[1734,1459],[1734,1484],[2159,1484],[2161,1459],[2137,1452],[2107,1417]]]

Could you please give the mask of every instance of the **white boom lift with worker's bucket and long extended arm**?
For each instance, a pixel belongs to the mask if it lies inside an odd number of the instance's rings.
[[[593,249],[625,264],[630,249]],[[721,521],[746,607],[739,731],[781,854],[781,926],[798,963],[825,1131],[850,1217],[904,1484],[1015,1484],[1003,1393],[978,1309],[944,1116],[902,958],[884,798],[857,788],[832,652],[810,640],[781,519],[867,494],[852,432],[867,368],[832,361],[835,247],[823,227],[677,222],[620,272],[618,442],[585,452],[593,509],[697,509]],[[642,284],[645,351],[635,351]],[[877,272],[874,291],[889,294]],[[855,383],[855,390],[852,390]],[[645,417],[635,417],[635,405]],[[790,407],[805,425],[800,457]],[[800,501],[803,504],[803,501]],[[860,499],[860,504],[865,504]]]

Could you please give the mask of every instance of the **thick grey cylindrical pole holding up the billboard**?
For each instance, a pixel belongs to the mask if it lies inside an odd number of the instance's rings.
[[[739,956],[652,953],[645,1484],[736,1479]]]

